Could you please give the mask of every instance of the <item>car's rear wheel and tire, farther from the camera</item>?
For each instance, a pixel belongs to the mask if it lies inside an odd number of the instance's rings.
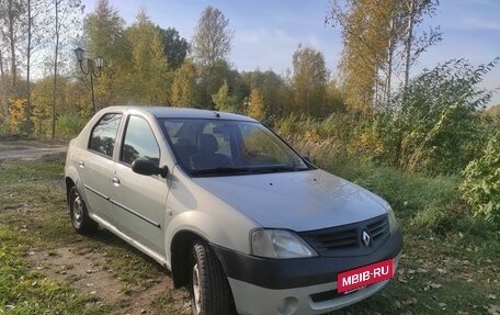
[[[68,203],[71,225],[79,234],[92,234],[98,229],[99,224],[90,218],[86,203],[75,185],[69,191]]]

